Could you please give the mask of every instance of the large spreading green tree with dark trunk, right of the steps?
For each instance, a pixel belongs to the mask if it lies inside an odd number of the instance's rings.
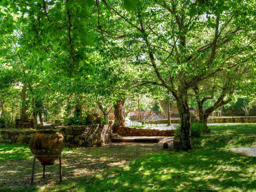
[[[188,90],[255,57],[255,1],[96,2],[102,39],[125,50],[141,82],[176,98],[181,148],[191,149]]]

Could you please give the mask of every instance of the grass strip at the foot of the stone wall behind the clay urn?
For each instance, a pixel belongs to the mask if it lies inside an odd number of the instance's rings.
[[[62,153],[73,150],[75,149],[64,148]],[[33,158],[33,156],[28,144],[0,143],[0,161],[17,161],[29,158]]]

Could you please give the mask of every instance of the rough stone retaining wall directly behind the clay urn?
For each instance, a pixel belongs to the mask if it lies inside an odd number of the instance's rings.
[[[58,129],[65,138],[66,147],[101,146],[111,142],[111,125],[81,125],[44,127]],[[29,143],[35,130],[4,130],[0,131],[0,142]]]

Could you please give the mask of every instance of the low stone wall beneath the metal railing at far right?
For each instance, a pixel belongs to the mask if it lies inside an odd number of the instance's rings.
[[[256,117],[208,118],[207,123],[256,123]]]

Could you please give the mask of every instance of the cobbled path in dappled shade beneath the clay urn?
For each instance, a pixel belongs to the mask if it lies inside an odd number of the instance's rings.
[[[172,139],[168,139],[172,142]],[[172,143],[169,149],[172,150]],[[62,154],[62,179],[77,180],[80,176],[91,177],[113,166],[123,166],[148,153],[162,149],[162,143],[111,143],[102,147],[78,148]],[[0,162],[0,186],[29,188],[33,159]],[[42,178],[42,165],[36,160],[34,184],[53,185],[59,182],[59,162],[46,166],[45,178]]]

